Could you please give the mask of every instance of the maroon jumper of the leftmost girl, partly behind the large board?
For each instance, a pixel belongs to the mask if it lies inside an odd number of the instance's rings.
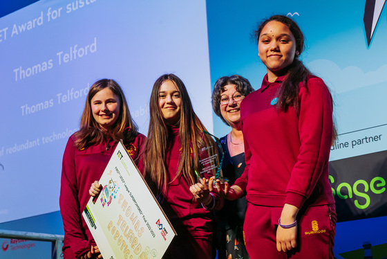
[[[138,157],[146,139],[139,133],[133,143],[126,147],[133,160]],[[82,211],[90,199],[88,190],[94,181],[100,180],[117,142],[110,139],[107,141],[107,147],[104,142],[91,145],[84,150],[77,150],[74,141],[73,134],[68,139],[64,150],[59,205],[64,224],[63,251],[68,255],[72,250],[73,255],[79,258],[86,251],[90,251],[92,244],[95,245],[93,236],[82,217]],[[70,249],[67,249],[69,247]],[[65,251],[66,249],[68,251]]]

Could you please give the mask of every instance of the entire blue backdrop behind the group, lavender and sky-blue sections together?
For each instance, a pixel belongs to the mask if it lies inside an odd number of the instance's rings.
[[[365,243],[373,258],[387,257],[385,3],[41,0],[1,17],[0,229],[63,234],[62,155],[100,78],[120,83],[147,134],[153,82],[176,73],[209,132],[227,134],[230,128],[211,113],[211,86],[237,73],[261,87],[266,69],[251,34],[262,19],[282,14],[300,25],[301,59],[335,102],[335,257],[364,258]],[[50,244],[0,242],[0,258],[50,258]]]

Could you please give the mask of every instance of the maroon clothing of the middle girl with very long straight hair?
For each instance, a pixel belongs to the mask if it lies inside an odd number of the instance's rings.
[[[169,127],[169,150],[166,157],[168,182],[175,179],[180,162],[181,143],[178,134],[178,127]],[[206,174],[205,177],[208,179],[211,175]],[[189,186],[190,184],[180,175],[168,184],[166,195],[158,195],[160,205],[178,233],[163,258],[212,258],[213,215],[196,201]],[[214,209],[221,206],[218,195],[214,195],[214,202]]]

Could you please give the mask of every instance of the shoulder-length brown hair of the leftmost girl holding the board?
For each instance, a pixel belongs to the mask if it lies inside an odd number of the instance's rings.
[[[91,111],[91,99],[93,99],[96,93],[105,88],[110,89],[120,99],[120,114],[109,132],[102,131],[100,125],[93,117],[93,111]],[[126,127],[130,127],[131,130],[129,132],[125,131]],[[106,136],[111,137],[114,141],[123,139],[124,145],[126,145],[131,143],[137,135],[138,127],[131,118],[131,113],[120,85],[113,79],[101,79],[95,82],[88,90],[84,112],[80,121],[80,130],[75,133],[75,147],[78,150],[82,150],[90,145],[102,143],[106,140]]]

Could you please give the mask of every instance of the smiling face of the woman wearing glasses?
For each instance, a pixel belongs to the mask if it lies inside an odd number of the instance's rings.
[[[236,91],[235,84],[227,84],[220,93],[220,114],[231,127],[237,127],[240,122],[240,102],[245,98]],[[225,100],[228,99],[228,102]]]

